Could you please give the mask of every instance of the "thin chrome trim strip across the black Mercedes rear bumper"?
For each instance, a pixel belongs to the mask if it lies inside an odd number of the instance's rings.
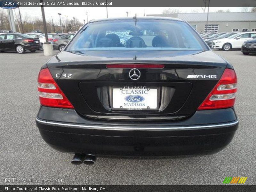
[[[187,130],[187,129],[200,129],[200,128],[214,128],[214,127],[226,127],[238,124],[238,120],[232,123],[213,124],[213,125],[197,125],[197,126],[183,126],[183,127],[117,127],[117,126],[96,126],[96,125],[81,125],[81,124],[68,124],[68,123],[57,123],[51,121],[44,121],[36,118],[37,122],[46,125],[58,125],[64,127],[80,127],[87,129],[96,130],[112,130],[112,131],[169,131],[169,130]]]

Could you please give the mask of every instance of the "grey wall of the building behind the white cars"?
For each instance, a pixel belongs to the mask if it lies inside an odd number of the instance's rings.
[[[204,32],[204,25],[206,22],[188,22],[190,25],[196,25],[198,32]],[[238,28],[238,32],[242,32],[243,28],[248,28],[248,31],[252,31],[252,28],[256,29],[256,21],[225,21],[225,22],[208,22],[208,25],[219,24],[218,32],[232,32],[233,28]],[[228,26],[226,26],[228,24]]]

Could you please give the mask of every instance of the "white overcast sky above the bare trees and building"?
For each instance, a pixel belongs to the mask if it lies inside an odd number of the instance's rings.
[[[108,17],[126,17],[126,12],[128,11],[128,16],[143,16],[145,14],[161,14],[164,9],[168,7],[108,7]],[[171,7],[171,9],[178,9],[180,12],[191,12],[197,10],[202,12],[201,7]],[[230,12],[243,12],[243,7],[210,7],[209,12],[215,12],[217,10],[227,10]],[[250,9],[249,9],[250,10]],[[61,17],[72,19],[76,17],[80,22],[86,21],[86,12],[88,12],[88,20],[92,19],[102,19],[106,18],[106,7],[44,7],[46,20],[53,18],[54,22],[59,22],[59,15]],[[207,11],[207,8],[206,8]],[[18,9],[15,9],[16,14],[18,15]],[[24,16],[26,13],[31,17],[41,17],[41,8],[40,7],[20,7],[21,15]],[[14,15],[15,16],[15,15]]]

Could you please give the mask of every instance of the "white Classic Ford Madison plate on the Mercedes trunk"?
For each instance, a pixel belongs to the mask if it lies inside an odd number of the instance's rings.
[[[112,109],[157,110],[157,88],[124,86],[113,88]]]

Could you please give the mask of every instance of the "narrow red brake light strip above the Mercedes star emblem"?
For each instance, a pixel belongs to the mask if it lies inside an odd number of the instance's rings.
[[[164,68],[162,64],[108,64],[106,68]]]

